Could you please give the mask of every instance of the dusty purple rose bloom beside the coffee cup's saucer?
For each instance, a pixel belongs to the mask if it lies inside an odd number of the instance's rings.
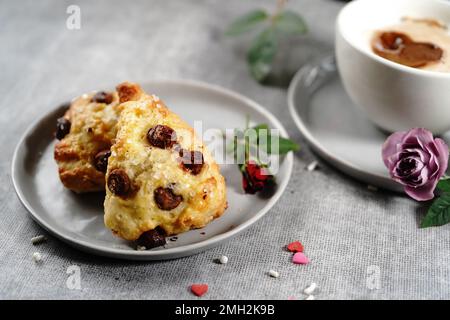
[[[413,199],[433,199],[433,191],[447,170],[448,146],[423,128],[395,132],[383,144],[383,161],[393,180]]]

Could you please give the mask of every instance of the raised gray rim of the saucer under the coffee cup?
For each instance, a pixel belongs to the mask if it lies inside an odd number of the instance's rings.
[[[294,95],[296,92],[296,89],[298,87],[298,83],[300,82],[300,79],[302,77],[302,73],[306,68],[311,67],[312,65],[318,65],[320,61],[324,61],[326,59],[334,58],[334,56],[329,56],[326,58],[321,58],[319,60],[314,61],[311,64],[305,65],[302,68],[300,68],[292,78],[289,88],[288,88],[288,94],[287,94],[287,103],[289,112],[294,120],[294,123],[296,124],[297,128],[299,129],[302,136],[306,139],[308,144],[312,147],[312,149],[317,152],[322,158],[327,160],[330,164],[337,167],[339,170],[343,171],[344,173],[347,173],[348,175],[360,180],[364,181],[368,184],[374,184],[381,186],[383,188],[386,188],[391,191],[396,192],[403,192],[402,187],[397,184],[396,182],[392,181],[389,176],[386,176],[368,172],[364,170],[363,168],[348,162],[345,159],[340,158],[339,156],[336,156],[329,152],[311,133],[311,131],[308,129],[308,126],[304,123],[300,115],[298,114],[295,106],[294,101]],[[338,73],[338,71],[336,71]],[[381,152],[381,151],[380,151]],[[381,157],[381,154],[380,154]]]

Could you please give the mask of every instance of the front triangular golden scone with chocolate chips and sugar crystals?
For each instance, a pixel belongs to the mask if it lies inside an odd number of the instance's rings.
[[[106,174],[106,226],[123,239],[145,240],[222,215],[225,179],[194,130],[136,84],[117,92],[123,103]]]

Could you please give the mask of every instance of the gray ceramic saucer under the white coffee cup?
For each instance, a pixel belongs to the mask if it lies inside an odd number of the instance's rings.
[[[351,102],[333,57],[301,68],[288,92],[291,115],[311,147],[339,170],[367,184],[401,191],[381,159],[386,134]]]

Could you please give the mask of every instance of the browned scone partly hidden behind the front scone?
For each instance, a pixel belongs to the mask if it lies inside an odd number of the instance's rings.
[[[75,99],[58,119],[54,158],[65,187],[77,193],[105,189],[119,113],[117,92],[102,91]]]

